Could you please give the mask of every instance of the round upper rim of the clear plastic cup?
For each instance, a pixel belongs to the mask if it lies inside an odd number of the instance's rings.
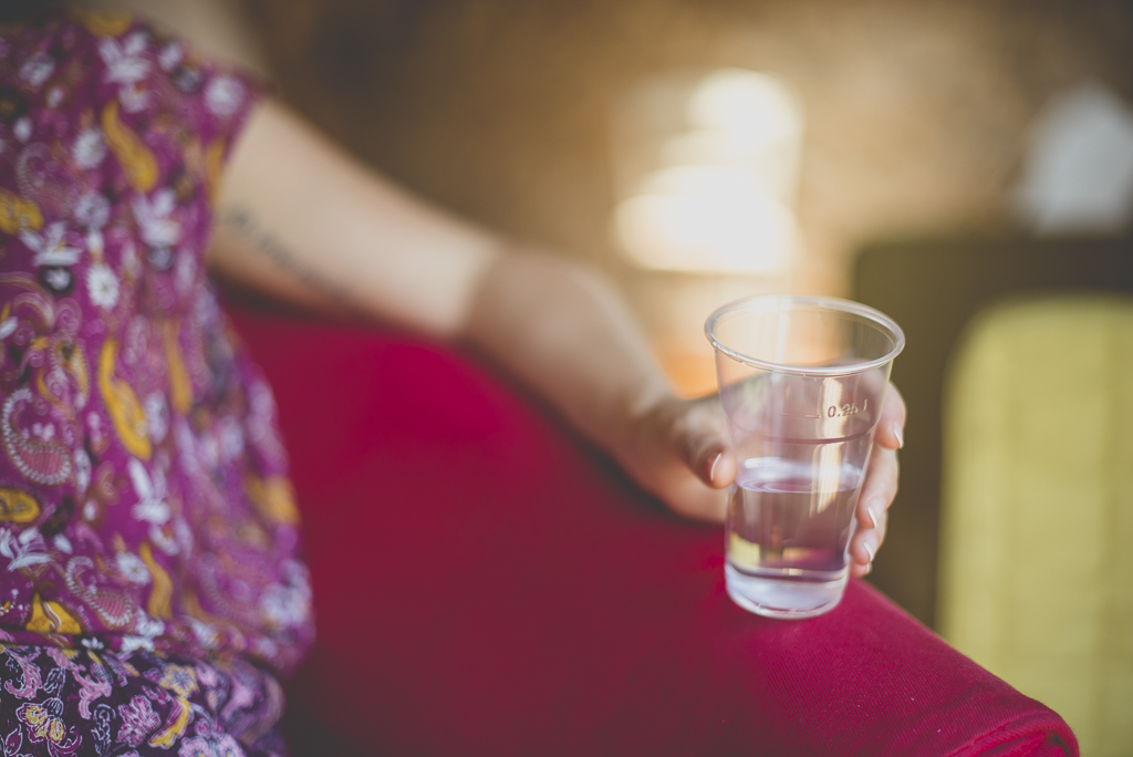
[[[871,321],[874,325],[888,332],[888,335],[893,339],[893,349],[879,358],[852,365],[793,365],[790,363],[772,363],[770,360],[760,360],[759,358],[751,357],[750,355],[744,355],[743,352],[739,352],[724,345],[724,342],[719,341],[714,333],[716,324],[719,320],[725,315],[735,313],[736,311],[748,309],[757,313],[766,313],[768,311],[795,308],[800,305],[837,311],[840,313],[847,313]],[[743,299],[738,299],[734,303],[729,303],[723,307],[716,308],[713,314],[708,316],[708,320],[705,321],[705,335],[708,337],[708,341],[712,342],[713,347],[724,355],[727,355],[733,360],[750,365],[753,368],[807,376],[845,376],[854,373],[864,373],[866,371],[870,371],[889,363],[893,358],[901,354],[901,350],[905,348],[905,332],[901,330],[901,326],[897,325],[896,321],[887,316],[885,313],[869,307],[868,305],[854,303],[849,299],[840,299],[837,297],[802,297],[798,295],[757,295],[756,297],[744,297]]]

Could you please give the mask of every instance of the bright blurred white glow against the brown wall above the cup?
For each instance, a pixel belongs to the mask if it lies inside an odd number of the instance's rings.
[[[802,128],[799,99],[768,74],[644,83],[614,113],[622,248],[654,270],[783,272],[796,245]]]

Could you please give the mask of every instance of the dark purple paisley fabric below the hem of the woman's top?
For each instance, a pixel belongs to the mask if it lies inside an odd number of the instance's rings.
[[[283,694],[239,658],[79,649],[0,652],[5,757],[269,757],[287,754]]]

